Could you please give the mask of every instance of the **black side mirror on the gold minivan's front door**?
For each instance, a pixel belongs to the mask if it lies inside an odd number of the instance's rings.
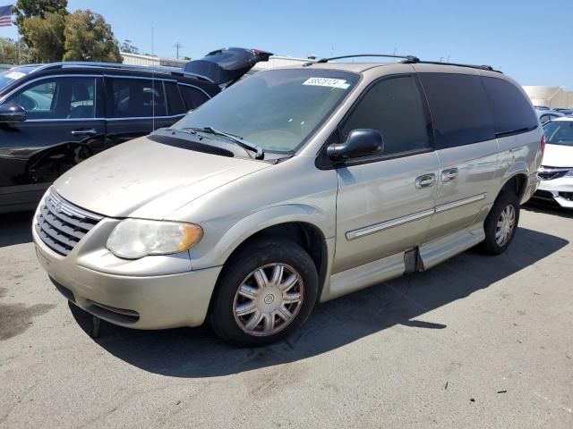
[[[350,131],[345,143],[330,145],[327,155],[333,161],[381,154],[384,139],[379,130],[358,129]]]

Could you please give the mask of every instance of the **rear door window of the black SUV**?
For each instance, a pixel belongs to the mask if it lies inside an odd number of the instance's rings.
[[[149,118],[166,116],[163,81],[110,78],[112,105],[108,117]]]

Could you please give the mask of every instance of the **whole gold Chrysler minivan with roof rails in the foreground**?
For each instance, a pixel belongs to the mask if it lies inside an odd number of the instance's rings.
[[[48,189],[38,259],[113,324],[278,341],[317,302],[508,248],[543,130],[487,66],[316,63],[261,71]]]

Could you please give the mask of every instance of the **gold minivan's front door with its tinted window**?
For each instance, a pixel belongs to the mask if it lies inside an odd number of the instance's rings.
[[[333,273],[421,244],[432,218],[440,167],[430,115],[415,76],[376,81],[347,115],[339,134],[380,130],[381,156],[339,166]]]

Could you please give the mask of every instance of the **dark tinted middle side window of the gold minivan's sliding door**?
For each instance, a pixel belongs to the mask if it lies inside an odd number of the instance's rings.
[[[489,100],[478,76],[419,76],[432,112],[436,147],[457,147],[495,138]]]

